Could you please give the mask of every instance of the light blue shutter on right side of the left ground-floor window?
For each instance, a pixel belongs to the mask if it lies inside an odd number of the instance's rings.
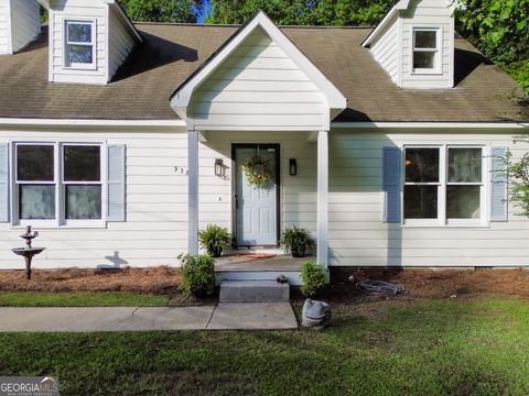
[[[107,146],[107,221],[125,221],[125,144]]]

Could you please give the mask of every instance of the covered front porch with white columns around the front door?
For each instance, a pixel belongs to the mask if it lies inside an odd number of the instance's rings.
[[[202,138],[201,138],[202,136]],[[226,228],[233,235],[238,250],[228,252],[227,256],[217,258],[216,271],[223,279],[276,279],[282,273],[292,284],[300,284],[301,264],[312,260],[327,265],[327,212],[328,212],[328,132],[289,131],[207,131],[197,133],[190,131],[190,201],[188,201],[188,246],[190,253],[197,254],[199,250],[197,233],[208,224]],[[195,139],[196,140],[195,140]],[[236,148],[270,154],[266,147],[273,146],[277,155],[274,177],[272,179],[273,194],[259,194],[253,197],[245,190],[256,193],[260,190],[249,187],[241,175],[241,162],[237,161]],[[247,148],[250,147],[250,148]],[[198,155],[201,154],[201,156]],[[291,158],[296,162],[296,172],[290,169]],[[214,163],[223,163],[225,174],[214,174]],[[193,166],[193,162],[195,166]],[[199,172],[196,172],[199,170]],[[244,186],[239,188],[239,186]],[[245,187],[246,186],[246,187]],[[267,189],[268,190],[268,189]],[[273,201],[271,210],[244,210],[248,201],[260,205]],[[264,201],[264,202],[263,202]],[[251,208],[251,207],[250,207]],[[268,209],[264,207],[264,209]],[[248,218],[262,221],[262,213],[268,215],[269,221],[252,227]],[[261,217],[259,217],[261,215]],[[250,227],[247,229],[247,222]],[[294,258],[280,249],[282,233],[293,226],[305,229],[312,234],[314,249],[313,256]],[[244,243],[255,233],[248,230],[266,230],[271,234],[267,241],[255,240],[253,243]],[[257,237],[260,237],[258,234]],[[241,243],[242,240],[242,243]],[[251,241],[250,241],[251,242]],[[248,253],[273,253],[273,257],[251,257]],[[259,274],[259,275],[257,275]],[[229,277],[228,277],[229,275]]]

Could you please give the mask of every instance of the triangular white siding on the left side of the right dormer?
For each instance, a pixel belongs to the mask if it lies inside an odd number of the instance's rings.
[[[398,84],[399,75],[399,20],[393,18],[386,32],[371,46],[373,56],[388,73],[393,82]]]

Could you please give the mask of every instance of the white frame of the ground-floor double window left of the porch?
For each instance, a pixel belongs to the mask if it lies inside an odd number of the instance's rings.
[[[55,185],[55,219],[20,219],[19,216],[19,188],[17,175],[17,147],[19,145],[53,145],[54,146],[54,182],[47,184]],[[100,219],[66,219],[66,188],[71,182],[63,183],[64,175],[64,146],[99,146],[100,150],[100,182],[83,182],[79,184],[96,184],[101,186],[101,218]],[[10,142],[11,161],[10,161],[10,213],[11,227],[19,229],[26,226],[33,226],[40,229],[57,229],[57,228],[106,228],[107,224],[107,142],[106,141],[34,141],[34,140],[13,140]],[[23,182],[22,182],[23,184]],[[30,182],[26,184],[44,184],[40,182]]]

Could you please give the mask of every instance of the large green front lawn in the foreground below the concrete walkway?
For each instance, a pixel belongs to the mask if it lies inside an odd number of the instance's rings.
[[[529,304],[350,305],[322,332],[0,334],[0,373],[56,375],[62,395],[527,395]]]

